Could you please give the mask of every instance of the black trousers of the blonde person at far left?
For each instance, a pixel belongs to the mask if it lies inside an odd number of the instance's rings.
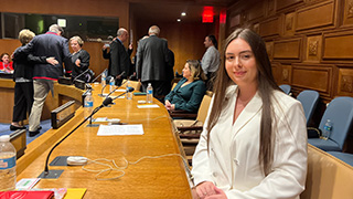
[[[31,114],[33,104],[33,82],[14,84],[14,106],[12,122],[20,122]]]

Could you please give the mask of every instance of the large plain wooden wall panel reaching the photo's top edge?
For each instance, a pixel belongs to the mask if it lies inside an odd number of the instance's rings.
[[[334,2],[314,4],[297,11],[296,30],[302,31],[314,28],[334,27]]]

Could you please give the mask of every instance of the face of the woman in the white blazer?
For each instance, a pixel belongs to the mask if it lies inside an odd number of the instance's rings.
[[[245,40],[233,40],[226,49],[225,59],[225,69],[234,83],[238,86],[257,86],[256,59]]]

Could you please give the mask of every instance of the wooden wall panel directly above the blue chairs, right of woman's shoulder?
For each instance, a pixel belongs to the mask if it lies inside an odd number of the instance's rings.
[[[293,64],[292,66],[293,86],[315,90],[325,96],[332,96],[332,65]]]

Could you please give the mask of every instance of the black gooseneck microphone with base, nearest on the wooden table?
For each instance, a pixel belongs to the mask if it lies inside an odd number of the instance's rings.
[[[132,92],[132,90],[129,90],[127,92]],[[63,137],[58,143],[56,143],[53,148],[50,150],[49,155],[46,156],[46,160],[45,160],[45,167],[44,167],[44,171],[39,176],[39,178],[45,178],[45,179],[57,179],[62,172],[64,170],[49,170],[49,158],[52,155],[53,150],[61,144],[63,143],[69,135],[72,135],[77,128],[79,128],[87,119],[89,119],[94,114],[96,114],[100,108],[103,108],[104,106],[108,106],[109,104],[113,104],[113,101],[115,101],[116,98],[118,98],[121,95],[125,95],[127,92],[118,95],[115,98],[108,97],[106,98],[100,106],[96,107],[92,114],[85,118],[82,123],[79,123],[79,125],[77,125],[73,130],[71,130],[65,137]]]

